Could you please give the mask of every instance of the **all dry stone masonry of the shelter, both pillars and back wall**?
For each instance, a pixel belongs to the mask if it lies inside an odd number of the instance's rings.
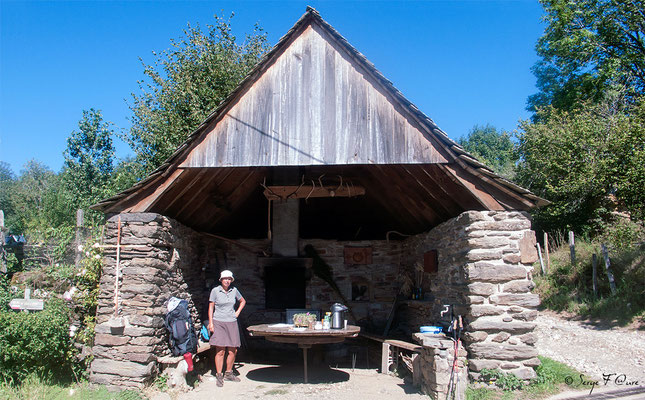
[[[115,314],[119,217],[119,310]],[[532,367],[539,363],[533,334],[539,299],[531,293],[531,264],[537,252],[530,226],[528,215],[521,212],[469,211],[404,241],[300,240],[299,252],[304,254],[304,246],[312,245],[333,269],[356,318],[382,327],[399,293],[400,277],[413,274],[415,263],[422,262],[426,252],[437,250],[438,271],[425,274],[422,299],[407,301],[398,309],[399,329],[409,335],[419,332],[420,326],[436,323],[443,305],[450,304],[455,314],[464,316],[463,339],[472,378],[483,368],[499,368],[529,379],[535,376]],[[105,235],[91,381],[115,388],[143,387],[158,371],[157,358],[169,353],[163,326],[167,300],[171,296],[188,300],[196,326],[201,327],[210,288],[218,283],[223,269],[234,272],[247,300],[240,318],[243,326],[281,322],[283,311],[267,310],[264,302],[261,253],[271,248],[270,240],[238,242],[241,245],[218,240],[153,213],[111,217]],[[344,249],[348,246],[370,247],[371,264],[346,264]],[[367,291],[351,301],[355,284],[366,285]],[[308,308],[327,310],[340,299],[327,283],[312,275],[306,301]],[[441,346],[432,347],[422,358],[427,363],[423,368],[428,390],[438,387],[432,378],[432,370],[441,364],[437,354],[447,360],[445,352],[436,349],[448,344]]]

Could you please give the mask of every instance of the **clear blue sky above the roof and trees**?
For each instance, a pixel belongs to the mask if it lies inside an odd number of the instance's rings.
[[[529,117],[530,67],[544,29],[537,0],[11,1],[0,0],[0,161],[58,172],[82,110],[128,129],[139,57],[169,47],[188,23],[235,12],[239,37],[258,22],[275,44],[307,4],[453,139],[475,124],[514,130]],[[116,141],[117,156],[130,151]]]

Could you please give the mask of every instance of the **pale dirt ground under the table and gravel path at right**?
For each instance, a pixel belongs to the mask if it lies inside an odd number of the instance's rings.
[[[540,312],[536,322],[539,354],[570,365],[597,382],[594,394],[645,387],[645,331],[594,324],[551,312]],[[373,350],[371,361],[367,360],[365,353],[358,354],[353,371],[349,354],[331,365],[329,361],[312,357],[308,384],[303,383],[302,354],[298,349],[283,354],[281,362],[275,362],[276,358],[271,354],[263,354],[264,357],[257,354],[245,357],[241,354],[237,368],[242,380],[239,383],[225,382],[224,387],[218,388],[214,377],[207,374],[201,382],[196,383],[194,389],[187,392],[161,393],[150,390],[146,394],[152,400],[202,400],[219,396],[294,400],[428,398],[420,394],[407,379],[379,374],[378,361],[374,361],[374,356],[380,357],[380,354],[376,354],[377,349]],[[605,381],[603,374],[613,375]],[[584,378],[586,384],[579,376],[571,379],[574,384],[578,382],[581,391],[561,394],[558,399],[580,396],[584,393],[582,390],[590,389],[587,378]],[[636,396],[645,398],[643,393]]]

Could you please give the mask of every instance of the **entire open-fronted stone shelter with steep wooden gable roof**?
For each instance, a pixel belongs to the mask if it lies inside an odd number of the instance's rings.
[[[351,323],[382,333],[395,300],[413,296],[397,307],[398,332],[452,305],[471,376],[530,378],[539,299],[527,211],[543,204],[308,8],[165,164],[94,206],[108,220],[91,380],[142,387],[169,353],[167,299],[189,300],[201,326],[223,269],[247,300],[242,326],[344,302]]]

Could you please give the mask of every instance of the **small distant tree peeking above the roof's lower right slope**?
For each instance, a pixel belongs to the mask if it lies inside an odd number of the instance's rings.
[[[518,155],[508,132],[490,124],[475,125],[468,136],[459,139],[459,145],[499,175],[513,178]]]

